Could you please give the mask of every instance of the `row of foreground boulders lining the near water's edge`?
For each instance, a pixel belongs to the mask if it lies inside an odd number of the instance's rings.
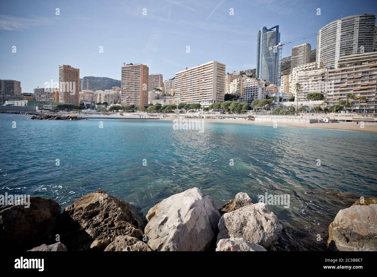
[[[329,226],[329,250],[376,251],[376,213],[377,198],[340,210]],[[157,203],[146,221],[100,190],[62,213],[57,202],[38,196],[30,197],[29,208],[0,207],[5,249],[24,251],[269,251],[282,231],[267,205],[248,194],[217,208],[198,188]]]

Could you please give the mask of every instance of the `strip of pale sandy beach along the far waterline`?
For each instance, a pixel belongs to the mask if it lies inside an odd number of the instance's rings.
[[[173,120],[176,117],[165,117],[163,120]],[[195,119],[195,118],[186,118]],[[274,122],[256,122],[253,120],[239,120],[239,119],[202,119],[205,122],[224,122],[224,123],[242,123],[242,124],[259,124],[259,125],[273,125]],[[337,123],[285,123],[277,122],[277,127],[288,126],[288,127],[298,127],[298,128],[314,128],[314,129],[333,129],[333,130],[345,130],[354,132],[366,132],[366,133],[377,133],[377,124],[375,123],[365,123],[364,128],[362,124],[356,124],[352,122],[337,122]]]

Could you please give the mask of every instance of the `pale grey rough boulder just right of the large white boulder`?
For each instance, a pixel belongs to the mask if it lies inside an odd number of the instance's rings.
[[[222,215],[219,221],[217,241],[235,237],[243,237],[267,248],[279,238],[283,229],[277,217],[268,210],[266,204],[248,205]]]

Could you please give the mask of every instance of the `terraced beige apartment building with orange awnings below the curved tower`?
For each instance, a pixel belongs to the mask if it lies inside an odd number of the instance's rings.
[[[346,110],[377,113],[377,52],[343,56],[338,65],[328,72],[326,105],[331,107],[346,100]],[[354,98],[348,98],[349,94]]]

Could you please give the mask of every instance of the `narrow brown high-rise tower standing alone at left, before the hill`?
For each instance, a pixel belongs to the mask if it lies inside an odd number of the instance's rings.
[[[80,69],[70,65],[59,66],[59,102],[80,104]]]

